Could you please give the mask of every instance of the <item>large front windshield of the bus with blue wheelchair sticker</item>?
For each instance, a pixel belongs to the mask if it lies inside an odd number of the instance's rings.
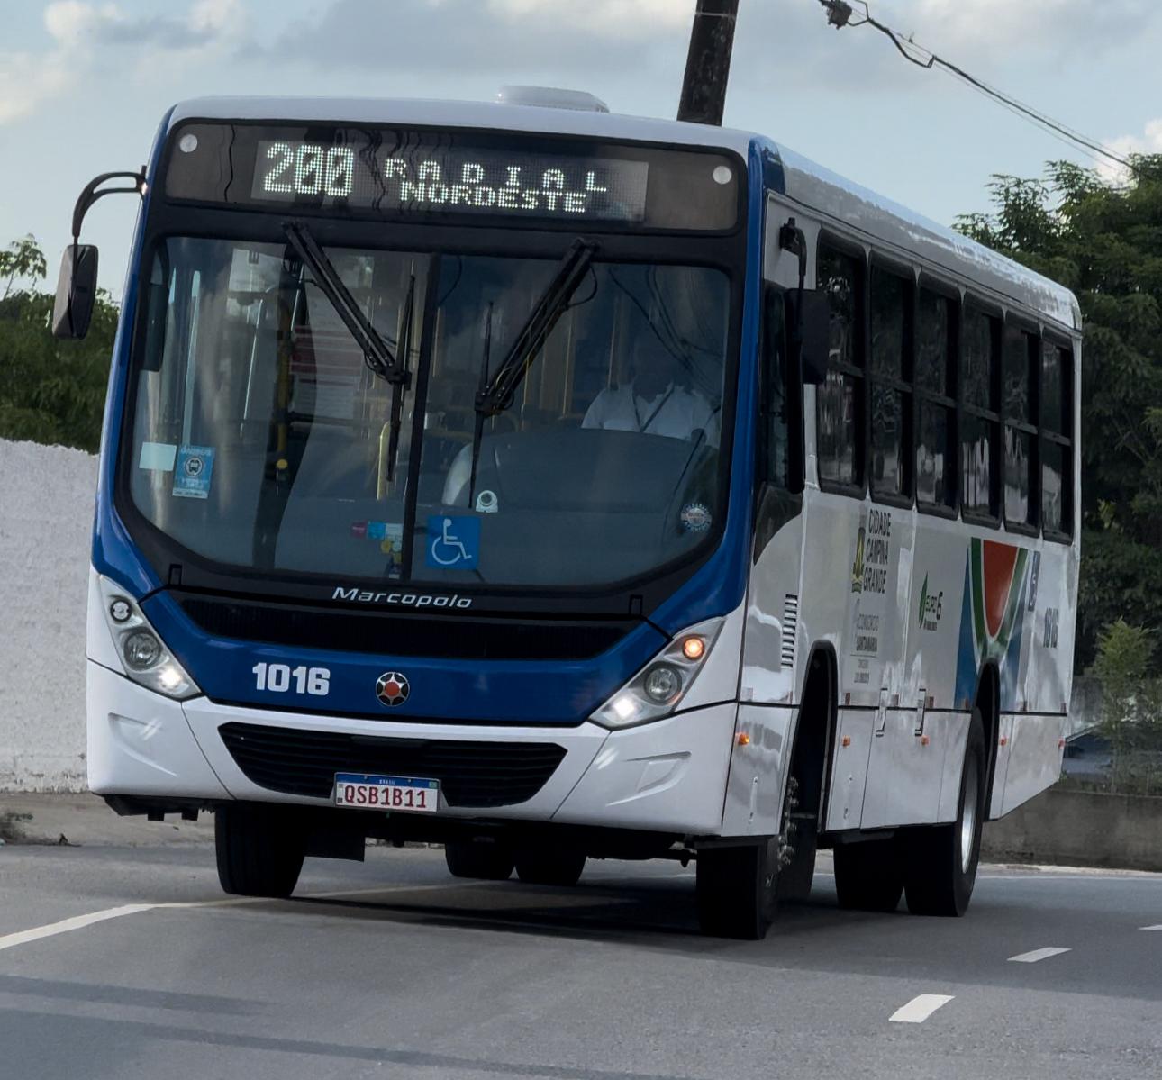
[[[293,245],[156,246],[123,474],[177,544],[245,570],[568,588],[716,535],[723,271],[597,253],[522,356],[559,258],[324,253],[403,381]],[[514,356],[510,400],[478,407]]]

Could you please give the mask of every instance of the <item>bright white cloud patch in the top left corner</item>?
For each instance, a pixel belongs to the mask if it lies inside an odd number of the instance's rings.
[[[57,0],[44,9],[50,47],[41,53],[0,52],[0,124],[60,98],[99,64],[138,72],[201,59],[236,47],[245,34],[242,0],[193,0],[185,14],[131,19],[115,3]]]

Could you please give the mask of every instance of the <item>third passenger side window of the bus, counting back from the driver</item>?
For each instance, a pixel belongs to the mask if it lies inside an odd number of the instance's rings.
[[[955,303],[921,288],[916,312],[916,498],[920,506],[956,506]]]

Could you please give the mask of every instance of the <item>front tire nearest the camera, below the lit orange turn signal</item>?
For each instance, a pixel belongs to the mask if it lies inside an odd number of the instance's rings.
[[[708,937],[756,942],[777,907],[779,838],[698,852],[698,925]]]

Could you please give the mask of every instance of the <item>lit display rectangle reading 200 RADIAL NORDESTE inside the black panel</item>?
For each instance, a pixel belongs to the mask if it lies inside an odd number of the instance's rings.
[[[404,213],[490,213],[641,221],[645,162],[519,151],[366,150],[263,140],[251,196]]]

